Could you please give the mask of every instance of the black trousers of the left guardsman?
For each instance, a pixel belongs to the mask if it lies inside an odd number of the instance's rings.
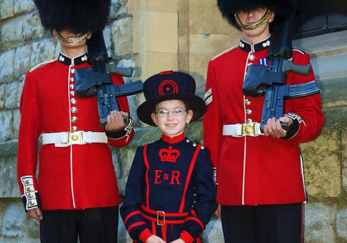
[[[41,243],[117,243],[118,206],[43,210]]]

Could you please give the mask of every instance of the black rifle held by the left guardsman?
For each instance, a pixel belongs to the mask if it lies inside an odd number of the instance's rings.
[[[119,111],[116,97],[142,92],[143,83],[138,80],[123,85],[114,85],[111,74],[131,77],[133,68],[118,68],[108,57],[102,31],[93,33],[87,40],[88,60],[93,68],[75,69],[77,96],[86,98],[97,95],[100,124],[106,125],[106,118],[113,110]]]

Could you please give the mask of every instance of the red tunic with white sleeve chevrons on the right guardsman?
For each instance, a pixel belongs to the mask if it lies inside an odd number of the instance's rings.
[[[242,86],[249,63],[259,65],[260,59],[266,58],[266,41],[257,45],[243,42],[208,64],[206,91],[212,95],[206,100],[204,143],[217,168],[218,204],[287,204],[306,200],[298,144],[315,139],[322,129],[325,119],[320,94],[285,100],[284,113],[294,112],[303,120],[291,139],[222,135],[224,124],[246,123],[249,119],[260,122],[264,97],[244,96]],[[293,50],[293,62],[309,64],[309,55]],[[312,80],[312,71],[308,76],[292,72],[287,75],[287,85]]]

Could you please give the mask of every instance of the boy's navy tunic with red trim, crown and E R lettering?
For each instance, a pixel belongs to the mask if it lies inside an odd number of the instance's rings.
[[[213,171],[204,146],[181,134],[163,135],[137,149],[121,207],[134,242],[152,234],[166,242],[200,242],[215,208]]]

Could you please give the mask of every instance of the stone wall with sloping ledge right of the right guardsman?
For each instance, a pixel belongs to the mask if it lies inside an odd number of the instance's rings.
[[[306,242],[347,242],[346,34],[342,31],[294,41],[295,46],[311,53],[326,116],[321,135],[301,144],[309,195]]]

